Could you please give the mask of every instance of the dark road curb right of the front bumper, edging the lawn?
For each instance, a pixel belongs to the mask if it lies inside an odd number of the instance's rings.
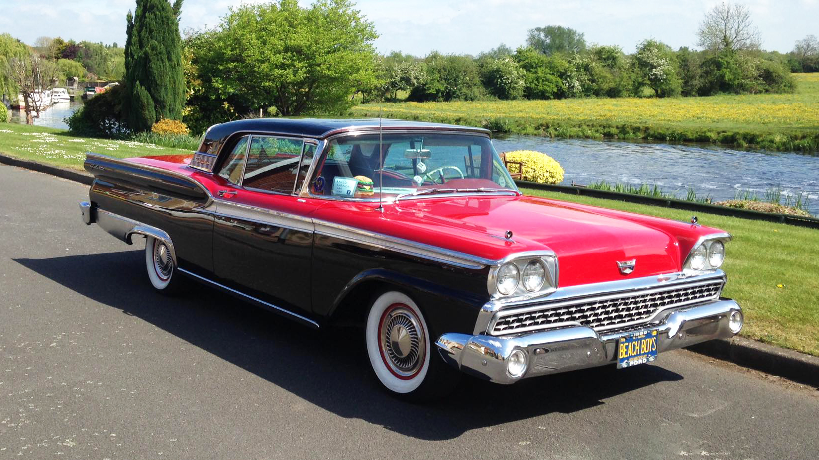
[[[819,388],[819,358],[744,337],[709,340],[687,350]]]

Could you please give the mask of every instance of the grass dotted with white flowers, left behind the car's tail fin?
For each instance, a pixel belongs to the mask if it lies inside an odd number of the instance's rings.
[[[68,135],[65,129],[0,123],[0,153],[6,156],[63,168],[83,169],[87,151],[116,158],[191,153],[143,142],[75,138]]]

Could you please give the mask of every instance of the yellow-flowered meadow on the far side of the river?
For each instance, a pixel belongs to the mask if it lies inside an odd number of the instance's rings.
[[[794,79],[794,94],[371,103],[353,107],[351,115],[468,124],[551,138],[710,142],[819,151],[819,74],[794,74]]]

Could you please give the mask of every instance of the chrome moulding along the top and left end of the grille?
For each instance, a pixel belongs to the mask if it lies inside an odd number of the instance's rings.
[[[484,334],[486,331],[489,331],[489,324],[492,321],[492,318],[495,316],[495,313],[501,309],[513,309],[528,305],[543,304],[547,299],[549,302],[556,302],[561,300],[614,293],[618,293],[619,295],[627,295],[631,291],[640,291],[652,287],[663,286],[665,288],[671,288],[672,286],[678,284],[690,283],[699,280],[713,281],[717,278],[722,278],[723,280],[727,279],[725,272],[720,269],[693,277],[686,277],[686,275],[681,272],[668,273],[627,280],[595,282],[591,284],[581,284],[578,286],[560,287],[557,289],[557,291],[551,292],[547,295],[541,295],[539,297],[527,300],[514,300],[508,303],[490,300],[489,302],[486,302],[486,304],[484,304],[481,308],[481,311],[477,313],[477,321],[475,322],[473,334]]]

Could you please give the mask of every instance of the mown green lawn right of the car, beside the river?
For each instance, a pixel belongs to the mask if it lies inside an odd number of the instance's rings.
[[[547,196],[668,219],[688,221],[693,214],[626,201],[603,200],[523,189]],[[695,213],[699,222],[731,233],[723,269],[724,295],[745,313],[742,336],[819,356],[819,231],[760,220]],[[781,286],[781,287],[780,287]]]

